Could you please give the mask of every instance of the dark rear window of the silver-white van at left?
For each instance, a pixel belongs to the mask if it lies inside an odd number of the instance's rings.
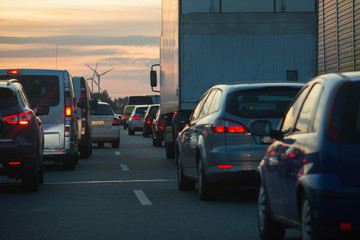
[[[14,76],[4,75],[1,79]],[[17,75],[16,79],[23,85],[32,107],[47,104],[57,106],[60,101],[59,78],[54,75]]]

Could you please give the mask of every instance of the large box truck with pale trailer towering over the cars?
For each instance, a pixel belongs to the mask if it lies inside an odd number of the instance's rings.
[[[162,0],[160,64],[150,83],[160,92],[166,156],[174,157],[184,127],[174,117],[189,116],[211,86],[316,76],[317,9],[316,0]]]

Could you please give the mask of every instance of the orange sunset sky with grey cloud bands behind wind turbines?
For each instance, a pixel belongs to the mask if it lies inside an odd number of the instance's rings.
[[[89,78],[85,63],[98,62],[100,74],[115,67],[101,78],[110,97],[152,94],[160,7],[161,0],[1,1],[0,68],[66,69]]]

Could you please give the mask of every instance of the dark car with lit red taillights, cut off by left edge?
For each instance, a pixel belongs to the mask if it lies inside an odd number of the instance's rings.
[[[40,118],[49,106],[31,108],[17,80],[0,81],[0,175],[21,179],[24,191],[44,182],[44,133]]]

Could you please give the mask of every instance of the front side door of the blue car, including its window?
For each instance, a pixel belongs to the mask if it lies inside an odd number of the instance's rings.
[[[291,131],[296,121],[296,116],[299,112],[304,99],[308,94],[309,87],[306,86],[301,90],[298,96],[295,98],[293,104],[285,114],[285,118],[279,126],[279,130],[284,136],[280,140],[275,140],[273,144],[267,150],[267,156],[265,157],[263,167],[263,180],[266,184],[266,194],[270,199],[270,208],[274,215],[285,217],[286,212],[284,208],[284,193],[282,190],[282,160],[283,155],[288,149],[288,144],[293,141],[291,138]]]

